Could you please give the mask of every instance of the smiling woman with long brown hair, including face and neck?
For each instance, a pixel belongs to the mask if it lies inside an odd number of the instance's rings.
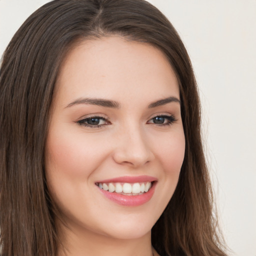
[[[143,0],[54,0],[0,70],[1,255],[225,255],[187,52]]]

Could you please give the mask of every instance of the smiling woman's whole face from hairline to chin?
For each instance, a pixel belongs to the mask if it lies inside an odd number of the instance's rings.
[[[184,148],[178,84],[160,50],[114,36],[71,49],[45,152],[49,191],[69,230],[148,234],[174,192]]]

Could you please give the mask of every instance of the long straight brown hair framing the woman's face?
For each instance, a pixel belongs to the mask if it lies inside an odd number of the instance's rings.
[[[152,245],[162,256],[225,255],[191,63],[171,23],[144,0],[54,0],[31,14],[8,44],[0,68],[1,255],[57,254],[56,213],[44,173],[54,84],[77,40],[112,34],[159,48],[179,82],[185,156],[176,190],[152,228]]]

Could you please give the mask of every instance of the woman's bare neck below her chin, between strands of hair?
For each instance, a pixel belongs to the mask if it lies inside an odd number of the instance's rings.
[[[65,228],[61,241],[64,249],[58,256],[152,256],[151,232],[141,237],[120,239],[106,234],[91,232],[87,229],[70,230]],[[156,256],[156,255],[154,255]]]

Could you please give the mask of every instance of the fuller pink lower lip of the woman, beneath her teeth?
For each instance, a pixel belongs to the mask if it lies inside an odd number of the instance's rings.
[[[154,188],[155,188],[156,182],[152,183],[152,186],[150,187],[150,189],[142,194],[138,194],[138,195],[124,195],[124,194],[119,194],[119,193],[115,193],[115,192],[108,192],[104,189],[98,188],[100,189],[100,192],[107,197],[108,199],[124,205],[124,206],[138,206],[141,204],[146,203],[147,201],[149,201],[151,199],[151,197],[153,196],[154,193]]]

